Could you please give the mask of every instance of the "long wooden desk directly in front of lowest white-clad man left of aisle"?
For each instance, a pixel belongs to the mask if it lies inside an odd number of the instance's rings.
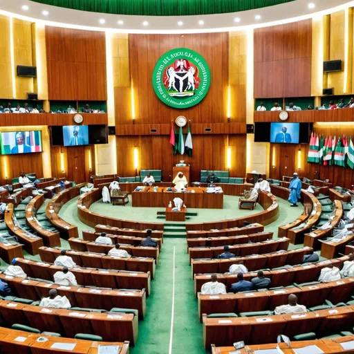
[[[33,301],[48,297],[49,290],[56,289],[59,295],[68,298],[72,307],[100,308],[107,311],[113,307],[135,308],[140,318],[144,318],[146,312],[145,289],[134,291],[59,286],[19,277],[8,277],[5,274],[0,274],[0,279],[8,283],[14,294]]]

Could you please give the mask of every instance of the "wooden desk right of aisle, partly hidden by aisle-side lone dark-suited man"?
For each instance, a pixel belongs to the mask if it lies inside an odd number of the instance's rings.
[[[248,256],[250,254],[267,254],[277,252],[279,250],[288,250],[290,240],[283,237],[282,239],[271,239],[255,243],[241,243],[240,245],[230,245],[229,251],[236,257]],[[218,258],[224,252],[223,246],[219,247],[203,247],[189,248],[189,264],[192,259],[201,258]]]

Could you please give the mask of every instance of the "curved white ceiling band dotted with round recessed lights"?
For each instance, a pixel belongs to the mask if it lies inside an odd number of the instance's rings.
[[[77,0],[80,1],[80,0]],[[133,1],[133,0],[131,0]],[[310,10],[308,3],[315,3],[315,8]],[[22,10],[22,6],[28,6],[28,10]],[[230,30],[247,30],[262,26],[270,26],[284,22],[299,21],[335,12],[354,6],[354,1],[347,0],[296,0],[277,6],[270,6],[258,10],[243,12],[232,12],[218,15],[201,16],[129,16],[129,15],[108,15],[97,12],[86,12],[57,8],[55,6],[42,5],[29,0],[0,0],[0,14],[12,15],[30,21],[41,21],[51,26],[64,26],[69,28],[84,28],[90,30],[111,30],[114,32],[129,33],[191,33],[191,32],[221,32]],[[42,11],[48,11],[48,16],[42,15]],[[260,15],[261,19],[254,17]],[[236,23],[235,17],[240,21]],[[100,19],[105,23],[100,24]],[[199,21],[204,24],[199,24]],[[118,24],[123,21],[124,24]],[[143,22],[148,21],[148,26],[143,26]],[[178,26],[178,21],[183,21],[182,26]]]

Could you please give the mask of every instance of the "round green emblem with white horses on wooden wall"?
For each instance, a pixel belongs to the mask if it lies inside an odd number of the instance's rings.
[[[168,106],[195,106],[207,95],[210,69],[194,50],[176,48],[160,57],[153,69],[152,85],[158,98]]]

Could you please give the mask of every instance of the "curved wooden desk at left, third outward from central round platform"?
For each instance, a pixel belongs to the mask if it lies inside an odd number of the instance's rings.
[[[15,218],[13,207],[14,205],[9,203],[8,208],[6,209],[6,226],[12,234],[15,234],[21,243],[24,243],[24,248],[29,254],[38,254],[39,248],[43,246],[43,240],[40,237],[30,234],[29,232],[21,229],[21,227],[17,226],[18,221]]]

